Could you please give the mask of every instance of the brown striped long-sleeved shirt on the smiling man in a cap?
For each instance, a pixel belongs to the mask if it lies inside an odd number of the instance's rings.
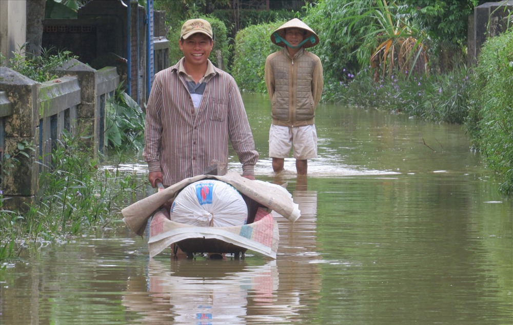
[[[143,157],[149,172],[162,171],[166,186],[201,175],[212,160],[228,162],[230,139],[243,175],[253,175],[259,154],[235,80],[208,61],[205,91],[196,114],[180,72],[183,60],[155,74],[144,134]]]

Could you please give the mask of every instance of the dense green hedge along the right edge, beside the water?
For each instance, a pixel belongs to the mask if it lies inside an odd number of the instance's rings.
[[[513,29],[489,38],[475,68],[467,130],[488,166],[513,194]]]

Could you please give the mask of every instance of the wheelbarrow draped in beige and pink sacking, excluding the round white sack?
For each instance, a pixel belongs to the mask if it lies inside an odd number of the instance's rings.
[[[169,205],[177,193],[187,185],[205,178],[215,178],[232,185],[246,201],[248,220],[245,225],[230,227],[198,227],[174,222],[164,205]],[[125,224],[142,235],[151,215],[148,247],[150,257],[173,245],[173,253],[180,248],[188,257],[196,253],[234,254],[244,257],[247,250],[276,258],[279,230],[271,211],[295,221],[300,216],[298,205],[290,193],[279,185],[254,181],[238,173],[223,176],[199,175],[182,180],[162,191],[135,202],[123,209]]]

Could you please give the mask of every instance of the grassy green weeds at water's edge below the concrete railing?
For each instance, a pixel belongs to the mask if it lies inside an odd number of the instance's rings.
[[[72,238],[105,226],[126,205],[126,193],[135,192],[132,173],[99,168],[92,149],[84,148],[82,142],[80,135],[62,134],[52,150],[51,170],[40,174],[37,201],[25,214],[5,210],[0,192],[2,260],[16,258],[22,242]]]

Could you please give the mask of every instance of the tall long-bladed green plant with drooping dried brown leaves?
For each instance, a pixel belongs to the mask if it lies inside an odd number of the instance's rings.
[[[406,18],[395,2],[324,1],[308,8],[305,23],[322,36],[319,48],[312,51],[330,63],[325,69],[328,78],[345,80],[343,68],[355,73],[371,65],[377,80],[398,70],[426,71],[424,34]]]

